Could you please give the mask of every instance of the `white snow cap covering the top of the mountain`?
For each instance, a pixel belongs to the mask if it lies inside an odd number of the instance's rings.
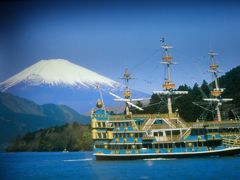
[[[109,78],[64,59],[41,60],[0,83],[0,89],[6,91],[19,83],[87,88],[95,87],[97,84],[109,88],[120,86]]]

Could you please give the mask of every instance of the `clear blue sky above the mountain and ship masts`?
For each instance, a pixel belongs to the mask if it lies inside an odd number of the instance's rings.
[[[235,1],[17,1],[0,4],[0,81],[41,59],[64,58],[134,89],[161,89],[160,38],[174,46],[177,85],[203,79],[208,51],[223,71],[240,65],[240,4]]]

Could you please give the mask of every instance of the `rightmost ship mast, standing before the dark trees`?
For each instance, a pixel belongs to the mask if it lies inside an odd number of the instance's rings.
[[[221,98],[221,95],[224,89],[220,88],[220,85],[218,82],[218,73],[220,73],[220,71],[218,70],[219,65],[216,63],[216,60],[215,60],[215,56],[217,56],[217,53],[210,51],[208,55],[210,56],[210,60],[211,60],[211,64],[209,66],[210,69],[208,71],[212,73],[214,76],[215,88],[213,88],[213,90],[211,91],[211,95],[213,96],[213,98],[204,98],[203,100],[217,103],[216,105],[217,120],[222,121],[220,106],[222,105],[222,102],[232,101],[233,99]]]

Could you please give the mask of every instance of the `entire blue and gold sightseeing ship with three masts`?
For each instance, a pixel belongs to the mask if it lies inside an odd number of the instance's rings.
[[[172,47],[163,42],[162,63],[167,66],[167,78],[163,91],[156,94],[167,96],[168,113],[166,114],[132,114],[129,107],[144,110],[134,104],[142,98],[133,99],[129,88],[132,79],[128,70],[124,72],[125,89],[123,97],[110,93],[116,101],[125,102],[123,114],[112,114],[105,110],[102,100],[92,110],[92,139],[94,155],[97,160],[130,160],[147,158],[182,158],[209,155],[233,155],[240,153],[239,122],[205,121],[187,123],[173,112],[171,98],[187,94],[187,91],[176,91],[171,80]],[[216,65],[216,64],[213,64]],[[212,65],[212,67],[213,67]],[[210,66],[211,67],[211,66]],[[216,73],[216,67],[212,71]],[[217,79],[217,77],[216,77]],[[217,83],[217,82],[215,82]],[[222,102],[222,90],[217,84],[213,89],[214,98],[206,101]],[[217,106],[219,107],[219,105]]]

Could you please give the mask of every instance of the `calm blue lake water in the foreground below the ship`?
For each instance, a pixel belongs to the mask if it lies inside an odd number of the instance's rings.
[[[0,179],[239,179],[240,156],[95,161],[91,152],[0,153]]]

